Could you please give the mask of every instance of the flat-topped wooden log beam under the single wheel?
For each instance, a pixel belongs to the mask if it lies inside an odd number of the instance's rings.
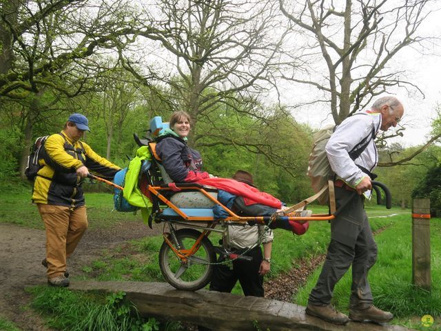
[[[72,290],[123,291],[143,317],[183,321],[213,331],[406,331],[398,325],[352,323],[335,325],[305,314],[305,307],[283,301],[230,293],[175,290],[167,283],[135,281],[71,281]],[[258,328],[256,328],[256,323]]]

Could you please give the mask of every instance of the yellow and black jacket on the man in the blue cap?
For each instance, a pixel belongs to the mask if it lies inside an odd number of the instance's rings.
[[[83,179],[76,170],[85,165],[91,173],[112,180],[121,168],[96,154],[87,143],[75,143],[62,131],[45,141],[42,168],[37,173],[32,192],[34,203],[84,205]]]

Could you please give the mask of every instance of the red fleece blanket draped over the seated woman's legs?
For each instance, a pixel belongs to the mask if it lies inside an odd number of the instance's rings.
[[[251,185],[242,183],[241,181],[235,181],[229,178],[207,178],[201,181],[196,181],[200,185],[209,185],[218,188],[219,190],[227,191],[231,194],[243,197],[245,205],[254,205],[255,203],[261,203],[263,205],[269,205],[269,207],[278,208],[282,206],[282,203],[276,197],[271,194],[260,192],[257,188]]]

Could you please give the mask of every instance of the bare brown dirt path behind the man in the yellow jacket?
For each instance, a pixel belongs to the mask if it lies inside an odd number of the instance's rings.
[[[141,221],[118,223],[110,229],[88,230],[68,261],[69,272],[81,274],[83,265],[99,257],[101,250],[130,239],[161,233],[161,227],[147,228]],[[43,230],[0,224],[0,316],[14,322],[21,330],[48,330],[38,314],[23,309],[30,302],[26,286],[45,284]]]

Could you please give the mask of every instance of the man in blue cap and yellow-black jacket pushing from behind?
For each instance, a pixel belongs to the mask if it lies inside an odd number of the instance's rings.
[[[41,166],[35,178],[32,201],[37,203],[46,230],[49,285],[65,287],[70,281],[66,258],[74,252],[88,228],[83,188],[89,172],[112,180],[121,170],[80,141],[89,121],[82,114],[70,115],[63,131],[45,141]]]

